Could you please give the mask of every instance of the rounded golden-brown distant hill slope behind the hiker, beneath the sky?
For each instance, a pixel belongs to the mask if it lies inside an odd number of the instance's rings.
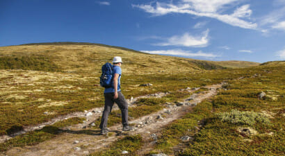
[[[225,67],[248,67],[248,64],[254,64],[254,62],[214,62],[154,55],[105,44],[51,42],[0,47],[0,69],[99,73],[101,65],[111,62],[115,55],[122,56],[124,72],[141,74],[184,73]]]

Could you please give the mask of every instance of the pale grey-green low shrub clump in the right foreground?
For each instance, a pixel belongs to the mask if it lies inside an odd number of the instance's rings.
[[[269,124],[270,120],[267,116],[259,112],[253,111],[238,111],[231,110],[231,112],[218,113],[218,118],[223,122],[229,122],[242,125],[254,125],[255,123]]]

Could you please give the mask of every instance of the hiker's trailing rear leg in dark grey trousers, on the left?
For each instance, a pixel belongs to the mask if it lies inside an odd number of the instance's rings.
[[[104,96],[105,96],[104,112],[102,114],[101,123],[99,126],[101,129],[107,128],[108,116],[112,111],[112,107],[114,104],[112,93],[105,93]]]

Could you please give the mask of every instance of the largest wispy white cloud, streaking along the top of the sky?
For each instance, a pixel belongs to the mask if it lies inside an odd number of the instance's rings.
[[[241,28],[257,29],[257,24],[246,21],[252,14],[250,5],[244,5],[236,8],[232,14],[222,14],[225,7],[233,4],[238,0],[182,0],[178,4],[173,3],[159,3],[132,5],[133,8],[140,8],[145,12],[149,12],[154,16],[162,16],[170,13],[190,14],[197,17],[209,17],[218,19],[231,26],[238,26]]]

